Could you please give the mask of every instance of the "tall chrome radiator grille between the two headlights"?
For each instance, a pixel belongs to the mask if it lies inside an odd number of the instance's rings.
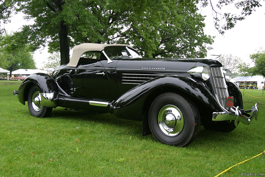
[[[222,107],[226,107],[226,97],[228,96],[225,78],[220,67],[210,67],[214,85],[214,91]]]

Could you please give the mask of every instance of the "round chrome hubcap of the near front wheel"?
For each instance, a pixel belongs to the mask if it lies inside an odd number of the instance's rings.
[[[178,135],[184,126],[184,119],[181,111],[173,105],[162,107],[157,117],[160,130],[167,136]]]

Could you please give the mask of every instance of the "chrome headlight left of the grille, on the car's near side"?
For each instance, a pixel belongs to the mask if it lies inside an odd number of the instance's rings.
[[[211,76],[210,68],[205,65],[192,67],[188,70],[188,73],[193,79],[196,79],[198,81],[206,81]]]

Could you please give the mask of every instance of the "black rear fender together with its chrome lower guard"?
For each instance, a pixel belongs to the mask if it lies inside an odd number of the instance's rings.
[[[44,99],[43,106],[50,107],[48,102],[52,101],[54,97],[58,96],[58,86],[56,81],[49,75],[44,73],[36,73],[29,75],[20,85],[18,90],[18,100],[20,103],[25,105],[25,101],[27,101],[29,89],[33,86],[37,85],[42,93],[41,96]],[[51,107],[56,107],[53,103]]]

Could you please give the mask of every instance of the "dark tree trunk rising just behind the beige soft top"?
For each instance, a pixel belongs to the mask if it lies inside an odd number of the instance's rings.
[[[70,48],[68,43],[68,25],[65,24],[65,21],[60,22],[59,41],[60,41],[61,65],[68,64],[70,61],[69,58]]]

